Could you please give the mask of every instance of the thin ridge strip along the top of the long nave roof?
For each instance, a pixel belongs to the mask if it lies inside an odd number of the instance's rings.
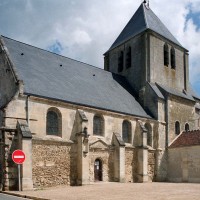
[[[63,56],[63,55],[61,55],[61,54],[57,54],[57,53],[55,53],[55,52],[48,51],[48,50],[46,50],[46,49],[42,49],[42,48],[40,48],[40,47],[36,47],[36,46],[31,45],[31,44],[27,44],[27,43],[25,43],[25,42],[18,41],[18,40],[15,40],[15,39],[13,39],[13,38],[9,38],[9,37],[4,36],[4,35],[0,35],[0,37],[7,38],[7,39],[13,40],[13,41],[15,41],[15,42],[19,42],[19,43],[21,43],[21,44],[24,44],[24,45],[27,45],[27,46],[29,46],[29,47],[33,47],[33,48],[36,48],[36,49],[39,49],[39,50],[42,50],[42,51],[46,51],[46,52],[48,52],[48,53],[54,54],[54,55],[56,55],[56,56],[60,56],[60,57],[62,57],[62,58],[67,58],[67,59],[70,59],[70,60],[72,60],[72,61],[76,61],[76,62],[82,63],[82,64],[84,64],[84,65],[87,65],[87,66],[89,66],[89,67],[93,67],[93,68],[95,68],[95,69],[99,69],[99,70],[102,70],[102,71],[105,71],[105,72],[109,72],[109,71],[104,70],[103,68],[100,68],[100,67],[97,67],[97,66],[94,66],[94,65],[91,65],[91,64],[88,64],[88,63],[85,63],[85,62],[82,62],[82,61],[79,61],[79,60],[76,60],[76,59],[67,57],[67,56]]]

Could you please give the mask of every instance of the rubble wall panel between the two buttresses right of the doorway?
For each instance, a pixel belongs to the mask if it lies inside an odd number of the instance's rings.
[[[125,149],[125,181],[137,182],[137,154],[134,148],[126,147]]]

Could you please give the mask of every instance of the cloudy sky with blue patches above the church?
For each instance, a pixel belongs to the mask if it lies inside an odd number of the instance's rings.
[[[103,68],[142,0],[0,0],[0,34]],[[190,82],[200,95],[200,0],[150,0],[150,8],[189,50]]]

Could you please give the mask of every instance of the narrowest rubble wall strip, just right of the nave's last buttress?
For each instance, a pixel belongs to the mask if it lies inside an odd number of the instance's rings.
[[[154,176],[155,176],[155,151],[154,150],[148,151],[148,176],[149,176],[149,181],[154,180]]]

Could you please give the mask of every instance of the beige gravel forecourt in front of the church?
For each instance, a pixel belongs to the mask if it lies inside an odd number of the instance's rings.
[[[82,187],[61,186],[20,194],[51,200],[200,200],[200,184],[95,183]]]

